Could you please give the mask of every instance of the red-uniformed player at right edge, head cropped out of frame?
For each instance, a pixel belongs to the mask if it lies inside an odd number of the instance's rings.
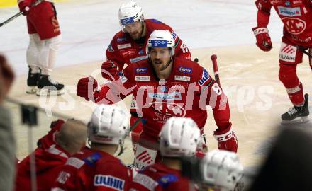
[[[303,52],[310,54],[312,69],[312,1],[310,0],[257,0],[257,27],[252,30],[257,46],[263,51],[272,49],[267,25],[273,7],[284,23],[282,46],[279,51],[279,80],[282,81],[291,103],[294,105],[282,115],[283,122],[297,117],[306,120],[308,94],[303,96],[303,85],[296,74],[297,64],[302,62]],[[309,51],[306,52],[306,50]]]

